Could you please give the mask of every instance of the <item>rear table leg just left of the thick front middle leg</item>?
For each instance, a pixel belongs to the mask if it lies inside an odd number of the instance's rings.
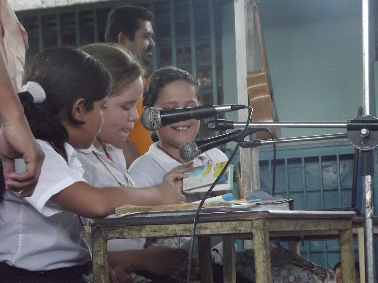
[[[223,236],[223,282],[236,283],[235,239]]]

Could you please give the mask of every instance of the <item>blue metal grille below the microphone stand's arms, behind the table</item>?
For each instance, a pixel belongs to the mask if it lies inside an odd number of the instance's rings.
[[[259,149],[260,187],[272,193],[272,148]],[[292,198],[295,210],[351,206],[354,148],[349,142],[278,147],[275,195]],[[361,193],[360,193],[361,194]],[[357,206],[361,196],[357,196]],[[358,249],[355,243],[355,256]],[[339,242],[311,241],[301,255],[332,268],[340,261]]]

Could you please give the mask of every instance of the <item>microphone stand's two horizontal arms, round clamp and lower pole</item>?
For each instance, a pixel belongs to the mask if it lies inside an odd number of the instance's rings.
[[[374,234],[373,234],[373,186],[374,173],[373,149],[378,146],[378,119],[369,115],[364,101],[364,113],[354,120],[347,122],[252,122],[248,128],[346,128],[347,133],[282,138],[274,140],[247,140],[240,147],[250,148],[256,146],[280,144],[296,141],[318,141],[328,139],[348,138],[350,143],[361,151],[361,175],[363,176],[363,209],[364,209],[364,236],[365,236],[365,282],[375,283],[374,272]],[[241,129],[245,123],[227,120],[212,120],[207,127],[213,130]]]

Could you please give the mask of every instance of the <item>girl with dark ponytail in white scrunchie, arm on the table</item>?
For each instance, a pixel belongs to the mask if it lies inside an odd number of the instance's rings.
[[[0,281],[80,282],[91,256],[79,215],[105,217],[124,204],[172,204],[185,197],[175,176],[143,189],[98,189],[82,177],[75,149],[90,147],[97,136],[111,86],[93,57],[73,47],[45,50],[25,80],[20,100],[45,160],[31,197],[3,192]]]

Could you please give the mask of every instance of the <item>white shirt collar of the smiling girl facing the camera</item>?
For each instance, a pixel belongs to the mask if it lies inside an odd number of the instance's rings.
[[[150,146],[148,154],[153,160],[155,160],[166,172],[171,171],[174,167],[181,165],[178,161],[168,156],[165,152],[158,148],[159,142],[155,142]],[[193,160],[194,166],[201,166],[211,162],[206,152],[199,155]],[[189,162],[188,162],[189,163]],[[174,166],[173,166],[174,165]]]

